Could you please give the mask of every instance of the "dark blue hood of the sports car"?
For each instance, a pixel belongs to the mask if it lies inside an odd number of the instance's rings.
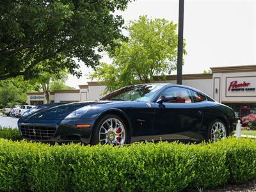
[[[83,108],[84,106],[89,106],[96,103],[97,101],[60,104],[59,106],[53,106],[52,108],[40,109],[39,111],[36,111],[35,113],[29,115],[28,118],[44,120],[61,120],[79,108]]]

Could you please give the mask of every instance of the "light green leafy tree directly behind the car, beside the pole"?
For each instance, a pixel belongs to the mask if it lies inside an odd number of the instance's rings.
[[[173,22],[147,16],[132,21],[128,41],[109,53],[113,63],[100,63],[90,77],[104,81],[109,92],[129,84],[152,83],[154,76],[170,74],[177,66],[176,28]]]

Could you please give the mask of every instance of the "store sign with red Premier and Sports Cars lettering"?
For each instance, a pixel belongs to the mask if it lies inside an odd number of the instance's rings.
[[[256,97],[256,76],[226,77],[226,97]]]

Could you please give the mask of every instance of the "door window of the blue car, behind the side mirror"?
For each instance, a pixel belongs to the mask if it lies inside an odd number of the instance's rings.
[[[173,97],[172,103],[191,103],[192,102],[191,93],[186,88],[173,86],[164,90],[162,95]]]

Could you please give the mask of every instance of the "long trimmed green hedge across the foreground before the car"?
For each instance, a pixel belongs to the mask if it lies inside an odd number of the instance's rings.
[[[256,143],[124,147],[0,140],[0,191],[181,191],[256,177]]]

